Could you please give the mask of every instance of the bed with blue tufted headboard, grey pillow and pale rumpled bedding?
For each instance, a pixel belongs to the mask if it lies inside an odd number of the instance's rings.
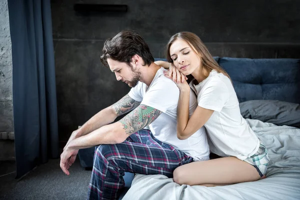
[[[267,178],[205,187],[135,174],[122,199],[300,199],[299,60],[215,59],[233,81],[241,114],[268,149]]]

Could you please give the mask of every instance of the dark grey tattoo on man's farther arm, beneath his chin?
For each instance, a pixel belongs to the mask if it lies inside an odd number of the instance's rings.
[[[115,110],[116,114],[122,115],[132,109],[134,109],[137,105],[139,105],[139,101],[132,99],[128,94],[122,97],[119,101],[111,105],[111,107]]]

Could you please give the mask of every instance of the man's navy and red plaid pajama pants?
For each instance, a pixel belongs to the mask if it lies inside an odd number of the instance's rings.
[[[141,129],[118,144],[96,147],[87,199],[117,199],[124,187],[125,171],[163,174],[192,161],[192,157],[156,139],[150,130]]]

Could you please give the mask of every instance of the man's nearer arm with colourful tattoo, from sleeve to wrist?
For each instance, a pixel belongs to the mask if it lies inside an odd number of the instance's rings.
[[[121,143],[133,132],[153,122],[160,114],[160,110],[141,104],[119,121],[104,125],[87,135],[72,140],[68,148],[79,149],[98,144]]]

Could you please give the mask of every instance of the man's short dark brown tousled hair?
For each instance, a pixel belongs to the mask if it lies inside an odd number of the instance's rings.
[[[100,60],[106,67],[108,67],[107,58],[126,62],[131,66],[130,62],[135,54],[143,59],[143,66],[149,66],[151,62],[154,62],[145,40],[134,30],[123,30],[113,38],[106,39]]]

